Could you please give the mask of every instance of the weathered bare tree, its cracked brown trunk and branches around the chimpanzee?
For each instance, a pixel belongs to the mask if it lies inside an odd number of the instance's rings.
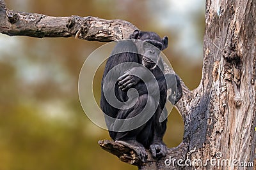
[[[0,32],[10,36],[113,41],[136,29],[124,20],[49,17],[10,11],[3,0],[0,5]],[[99,145],[139,169],[256,169],[255,22],[256,1],[206,1],[202,80],[193,91],[182,82],[176,107],[184,138],[165,158],[150,156],[143,164],[126,146],[106,140]]]

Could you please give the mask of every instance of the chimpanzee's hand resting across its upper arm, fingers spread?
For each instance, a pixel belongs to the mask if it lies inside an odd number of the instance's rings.
[[[125,71],[125,74],[120,76],[120,78],[117,80],[119,89],[127,90],[133,85],[136,85],[141,80],[141,78],[143,80],[147,80],[147,71],[147,68],[143,66],[132,67],[132,69]],[[134,74],[140,76],[141,78],[134,76]]]

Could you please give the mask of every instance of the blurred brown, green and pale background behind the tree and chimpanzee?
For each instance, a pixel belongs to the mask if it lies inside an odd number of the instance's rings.
[[[6,0],[6,4],[12,10],[52,16],[120,18],[143,31],[168,36],[164,54],[175,72],[191,90],[200,82],[203,0]],[[0,170],[136,169],[100,149],[97,141],[110,139],[108,131],[90,122],[79,103],[79,71],[86,57],[103,44],[0,34]],[[100,81],[95,80],[96,86]],[[179,145],[183,131],[182,118],[173,109],[166,145]]]

